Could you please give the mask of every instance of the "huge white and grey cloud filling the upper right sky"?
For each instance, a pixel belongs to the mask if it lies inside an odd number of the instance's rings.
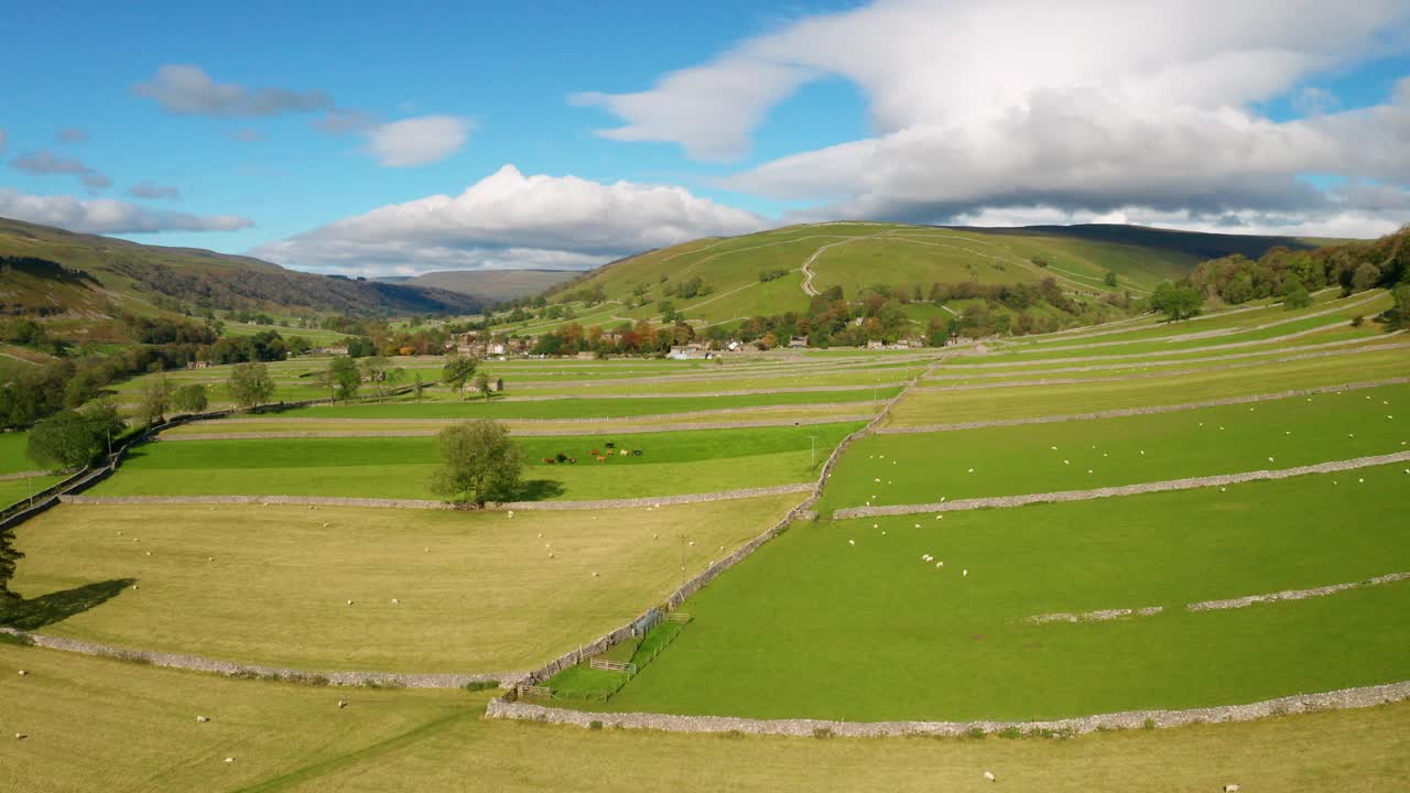
[[[737,154],[783,97],[840,76],[873,137],[737,174],[732,189],[826,202],[802,216],[943,222],[987,207],[1355,210],[1304,172],[1410,182],[1410,82],[1397,100],[1277,123],[1255,103],[1403,51],[1402,0],[883,0],[740,42],[647,92],[589,95],[619,140]],[[732,102],[740,86],[743,99]],[[580,102],[582,97],[577,97]],[[698,111],[704,109],[702,111]]]

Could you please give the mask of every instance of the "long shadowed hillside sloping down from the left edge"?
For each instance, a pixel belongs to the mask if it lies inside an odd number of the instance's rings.
[[[31,260],[28,267],[7,268],[0,313],[85,327],[111,319],[118,309],[138,315],[179,309],[406,315],[474,313],[484,302],[446,289],[313,275],[251,257],[144,246],[8,219],[0,219],[0,257]]]

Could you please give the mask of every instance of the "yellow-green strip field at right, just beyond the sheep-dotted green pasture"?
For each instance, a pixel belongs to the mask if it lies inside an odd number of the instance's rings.
[[[908,394],[897,402],[891,409],[890,423],[915,426],[1180,405],[1406,375],[1410,375],[1410,356],[1404,349],[1394,349],[1268,364],[1252,370],[1196,373],[1177,378],[922,391]]]

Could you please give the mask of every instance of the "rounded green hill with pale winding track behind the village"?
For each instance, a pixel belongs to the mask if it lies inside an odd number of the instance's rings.
[[[936,284],[1036,285],[1050,278],[1076,299],[1093,302],[1107,292],[1141,296],[1204,260],[1258,257],[1277,246],[1314,247],[1293,237],[1135,226],[816,223],[649,251],[585,272],[551,293],[606,301],[609,309],[595,312],[605,322],[654,319],[663,303],[704,323],[804,312],[809,291],[830,286],[842,288],[847,299],[873,286],[929,299]],[[924,313],[918,309],[915,319]]]

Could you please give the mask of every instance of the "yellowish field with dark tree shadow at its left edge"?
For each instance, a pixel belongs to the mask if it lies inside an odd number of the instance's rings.
[[[65,505],[17,529],[27,600],[10,621],[307,670],[523,670],[625,624],[801,500],[513,518]]]

